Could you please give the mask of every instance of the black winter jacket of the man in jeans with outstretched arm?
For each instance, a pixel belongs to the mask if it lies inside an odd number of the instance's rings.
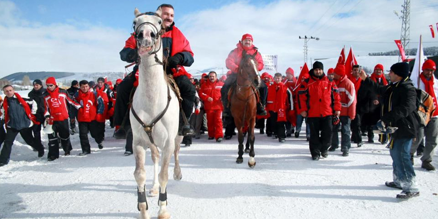
[[[395,84],[381,86],[367,78],[362,82],[362,86],[364,85],[382,97],[380,119],[389,126],[398,127],[391,137],[394,139],[415,138],[419,128],[417,92],[411,79],[406,78]]]

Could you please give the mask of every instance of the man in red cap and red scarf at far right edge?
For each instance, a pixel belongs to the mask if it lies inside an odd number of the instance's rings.
[[[435,108],[437,105],[438,95],[438,80],[434,77],[434,72],[437,70],[437,65],[431,59],[425,61],[422,66],[422,73],[420,74],[420,89],[426,91],[434,99]],[[431,120],[424,128],[419,128],[418,136],[412,143],[411,157],[414,156],[415,151],[418,148],[421,140],[426,137],[425,151],[423,157],[421,157],[421,168],[432,171],[435,167],[431,164],[432,157],[434,155],[434,149],[437,146],[438,135],[438,110],[435,110],[431,117]]]

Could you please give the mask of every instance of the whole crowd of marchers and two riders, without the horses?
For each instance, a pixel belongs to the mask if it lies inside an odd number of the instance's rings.
[[[219,77],[212,71],[198,80],[184,69],[184,66],[193,64],[194,54],[189,41],[173,22],[173,6],[160,6],[164,28],[161,35],[163,53],[167,57],[164,71],[173,76],[182,98],[183,113],[179,118],[179,134],[185,136],[182,144],[190,146],[192,137],[199,139],[205,131],[209,140],[231,139],[235,135],[235,125],[229,111],[228,91],[236,84],[242,56],[255,57],[257,70],[263,69],[262,56],[253,44],[252,35],[244,34],[229,53],[225,60],[229,69],[226,76]],[[120,51],[121,60],[128,63],[138,60],[136,37],[138,35],[134,32],[126,40]],[[409,78],[412,70],[408,63],[392,65],[389,78],[384,74],[384,66],[377,63],[370,76],[359,65],[347,69],[338,64],[327,72],[325,69],[323,63],[316,61],[310,70],[305,65],[299,77],[292,68],[288,68],[285,75],[262,73],[261,85],[254,88],[259,96],[256,128],[260,134],[279,142],[285,142],[287,137],[299,138],[304,121],[311,158],[317,161],[327,158],[329,152],[336,151],[339,145],[342,156],[348,156],[351,143],[361,147],[365,136],[368,143],[374,143],[376,133],[379,143],[390,148],[393,159],[394,180],[386,185],[403,189],[398,198],[418,196],[413,156],[415,153],[422,156],[422,168],[435,170],[431,162],[437,145],[438,110],[430,110],[432,114],[428,123],[421,124],[417,114],[418,91]],[[437,106],[435,70],[436,63],[426,60],[419,80],[420,89],[433,100],[431,109]],[[35,80],[27,99],[15,93],[12,86],[4,86],[1,121],[5,130],[2,125],[0,166],[8,163],[18,133],[38,152],[38,157],[42,157],[45,150],[41,143],[43,127],[48,130],[45,131],[49,141],[48,161],[59,158],[59,148],[63,149],[65,156],[70,155],[73,148],[70,136],[76,133],[76,123],[82,148],[79,155],[91,153],[88,132],[102,149],[106,120],[111,128],[115,128],[115,138],[126,139],[124,154],[132,154],[128,109],[137,80],[138,66],[135,65],[133,71],[123,80],[117,79],[113,87],[112,83],[99,78],[96,84],[86,80],[73,81],[71,88],[63,90],[57,86],[55,78],[50,77],[45,81],[46,88],[41,80]]]

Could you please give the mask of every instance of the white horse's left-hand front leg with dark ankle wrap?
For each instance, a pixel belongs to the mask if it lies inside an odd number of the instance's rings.
[[[144,190],[144,184],[146,182],[146,171],[144,169],[144,159],[146,156],[146,149],[135,142],[134,144],[134,157],[135,157],[135,171],[134,177],[137,181],[138,199],[144,198],[144,202],[138,203],[138,209],[140,211],[140,219],[150,219],[149,213],[147,212],[147,201],[146,194]]]

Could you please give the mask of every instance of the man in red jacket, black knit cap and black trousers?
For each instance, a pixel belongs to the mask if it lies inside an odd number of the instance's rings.
[[[310,153],[313,160],[319,160],[329,154],[332,116],[339,116],[341,106],[337,87],[325,75],[323,63],[316,61],[309,75],[298,88],[298,112],[308,117]]]

